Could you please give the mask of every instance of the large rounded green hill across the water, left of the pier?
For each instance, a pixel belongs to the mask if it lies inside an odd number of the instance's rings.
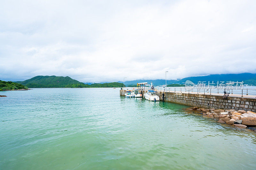
[[[25,81],[16,82],[25,85],[28,88],[65,88],[67,86],[70,86],[71,84],[81,84],[81,86],[85,85],[84,83],[71,79],[68,76],[63,77],[55,75],[38,75]]]

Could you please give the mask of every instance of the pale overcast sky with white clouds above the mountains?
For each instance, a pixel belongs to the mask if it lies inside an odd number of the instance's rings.
[[[255,0],[0,3],[0,80],[256,73]]]

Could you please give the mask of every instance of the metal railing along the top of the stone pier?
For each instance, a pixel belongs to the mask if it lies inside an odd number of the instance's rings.
[[[136,87],[127,87],[124,88],[125,90],[133,90],[137,89]],[[143,88],[144,90],[144,88]],[[150,87],[145,87],[145,90],[151,90]],[[193,93],[193,94],[205,94],[205,95],[214,95],[214,94],[223,94],[224,95],[224,89],[223,88],[185,88],[185,87],[155,87],[155,91],[165,91],[165,92],[176,92],[176,93]],[[250,96],[256,96],[256,89],[234,89],[234,88],[228,88],[230,94],[236,94],[241,97],[246,97],[248,95]]]

